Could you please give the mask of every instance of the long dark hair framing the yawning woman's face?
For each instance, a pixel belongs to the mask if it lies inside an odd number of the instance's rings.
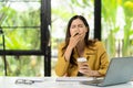
[[[70,37],[71,37],[71,34],[70,34],[70,26],[73,22],[73,20],[75,19],[80,19],[81,21],[83,21],[84,25],[88,28],[88,32],[85,33],[85,37],[84,37],[84,43],[85,43],[85,46],[89,46],[89,33],[90,33],[90,28],[89,28],[89,24],[88,24],[88,21],[85,20],[84,16],[82,15],[74,15],[70,19],[69,23],[68,23],[68,26],[66,26],[66,34],[65,34],[65,45],[64,47],[62,48],[63,51],[65,51],[65,48],[68,47],[69,45],[69,41],[70,41]],[[73,54],[73,51],[72,51],[72,54]],[[70,63],[72,65],[76,65],[75,64],[75,59],[73,59],[72,57],[72,54],[71,54],[71,57],[70,57]]]

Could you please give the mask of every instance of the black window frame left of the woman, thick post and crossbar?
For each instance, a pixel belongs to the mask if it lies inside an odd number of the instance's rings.
[[[51,45],[49,44],[50,40],[50,30],[51,26],[51,0],[41,0],[40,9],[40,34],[41,34],[41,44],[40,50],[0,50],[0,55],[4,57],[4,75],[7,73],[7,58],[8,55],[42,55],[44,56],[44,76],[51,76]],[[2,26],[1,26],[2,28]],[[49,45],[48,45],[49,44]]]

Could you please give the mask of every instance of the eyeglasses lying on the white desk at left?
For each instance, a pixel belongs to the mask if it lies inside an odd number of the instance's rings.
[[[16,84],[32,85],[34,82],[42,82],[42,80],[30,80],[30,79],[17,79],[16,80]]]

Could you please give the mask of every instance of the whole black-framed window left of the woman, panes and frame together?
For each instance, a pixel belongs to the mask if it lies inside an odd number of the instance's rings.
[[[48,37],[44,37],[48,34],[45,18],[51,16],[48,7],[51,7],[50,0],[0,0],[0,28],[6,37],[6,53],[0,48],[0,75],[3,74],[4,54],[8,76],[51,74]]]

